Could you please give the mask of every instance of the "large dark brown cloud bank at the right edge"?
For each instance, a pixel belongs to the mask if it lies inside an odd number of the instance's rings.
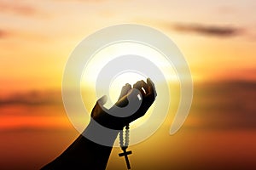
[[[201,129],[256,129],[256,82],[195,85],[190,115]]]

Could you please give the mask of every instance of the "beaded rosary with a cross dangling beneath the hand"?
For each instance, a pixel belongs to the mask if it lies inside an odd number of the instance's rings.
[[[123,133],[123,130],[121,130],[119,133],[119,144],[121,149],[123,150],[123,153],[119,153],[119,156],[125,156],[127,169],[131,169],[130,162],[128,160],[128,155],[131,154],[131,150],[126,151],[129,145],[129,124],[125,126],[125,143],[124,143],[124,133]]]

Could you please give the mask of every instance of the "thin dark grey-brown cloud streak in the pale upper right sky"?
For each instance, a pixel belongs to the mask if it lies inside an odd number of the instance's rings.
[[[204,26],[199,24],[174,24],[172,29],[215,37],[233,37],[242,33],[240,28],[233,26]]]

